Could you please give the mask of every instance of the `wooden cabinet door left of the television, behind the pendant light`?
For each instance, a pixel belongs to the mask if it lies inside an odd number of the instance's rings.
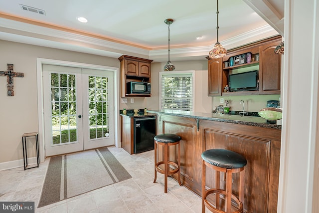
[[[208,96],[220,96],[222,93],[222,58],[208,61]]]

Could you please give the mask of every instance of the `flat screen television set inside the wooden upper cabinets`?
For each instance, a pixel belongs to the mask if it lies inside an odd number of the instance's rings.
[[[230,74],[228,76],[231,92],[256,90],[258,70]]]

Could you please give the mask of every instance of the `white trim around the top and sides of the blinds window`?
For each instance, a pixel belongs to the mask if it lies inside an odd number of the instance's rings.
[[[185,73],[190,73],[191,77],[192,77],[192,111],[195,111],[195,70],[184,70],[184,71],[163,71],[163,72],[159,72],[159,108],[161,108],[161,97],[162,97],[162,76],[163,75],[173,75],[173,76],[178,76],[178,75],[182,75]]]

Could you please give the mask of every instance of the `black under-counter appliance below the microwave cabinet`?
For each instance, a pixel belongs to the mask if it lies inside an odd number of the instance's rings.
[[[154,149],[156,116],[134,118],[134,153]]]

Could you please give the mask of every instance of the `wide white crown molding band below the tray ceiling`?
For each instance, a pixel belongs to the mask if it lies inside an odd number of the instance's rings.
[[[139,48],[97,37],[90,37],[6,18],[0,18],[0,31],[0,39],[4,40],[115,58],[118,58],[122,54],[127,54],[155,61],[165,61],[168,54],[167,49],[149,50],[147,48]],[[278,32],[267,24],[232,38],[222,40],[221,43],[226,49],[231,49],[277,34]],[[208,55],[209,50],[212,49],[213,46],[214,44],[198,47],[171,48],[170,56],[171,59],[204,57]]]

